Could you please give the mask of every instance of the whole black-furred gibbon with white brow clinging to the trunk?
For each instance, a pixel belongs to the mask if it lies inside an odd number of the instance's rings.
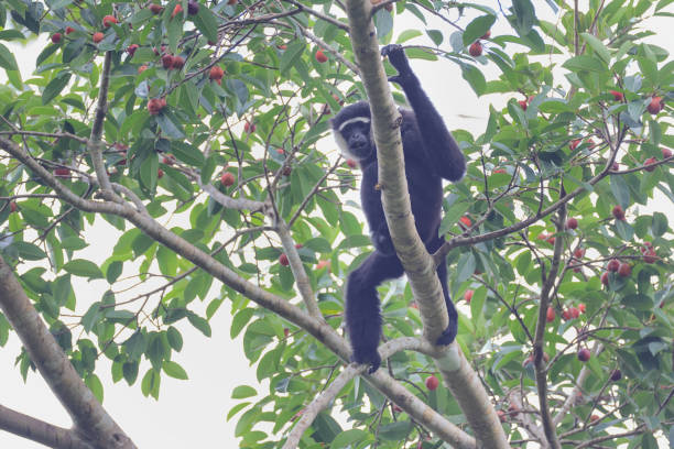
[[[412,110],[400,109],[401,135],[405,160],[405,176],[412,202],[416,230],[430,252],[443,243],[438,237],[443,186],[442,178],[458,180],[466,172],[466,160],[456,141],[447,131],[428,96],[412,72],[400,45],[387,45],[381,50],[388,56],[396,76],[389,78],[404,90]],[[370,373],[377,371],[381,358],[377,351],[381,337],[382,319],[377,286],[385,280],[403,275],[403,267],[395,254],[389,227],[381,205],[378,183],[377,149],[370,129],[370,106],[367,101],[350,105],[330,120],[335,140],[347,157],[360,163],[362,180],[360,201],[365,211],[374,252],[348,277],[346,286],[346,328],[354,351],[352,361],[367,363]],[[437,275],[449,315],[449,326],[437,344],[449,344],[456,338],[457,313],[447,291],[447,265],[441,263]]]

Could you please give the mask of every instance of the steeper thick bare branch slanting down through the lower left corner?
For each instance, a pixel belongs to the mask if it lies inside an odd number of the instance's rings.
[[[135,448],[79,377],[1,256],[0,309],[77,428],[90,437],[96,447]]]

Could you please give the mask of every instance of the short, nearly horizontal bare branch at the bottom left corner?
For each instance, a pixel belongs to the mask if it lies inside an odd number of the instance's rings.
[[[54,426],[0,405],[0,429],[56,449],[95,449],[70,429]]]

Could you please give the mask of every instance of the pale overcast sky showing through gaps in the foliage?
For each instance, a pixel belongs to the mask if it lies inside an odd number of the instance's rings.
[[[496,1],[480,1],[480,3],[490,7],[498,4]],[[502,2],[503,8],[509,3]],[[555,14],[545,2],[534,1],[534,4],[540,18],[556,22]],[[398,32],[420,24],[415,19],[396,18],[395,21]],[[461,19],[458,23],[465,26],[469,23],[469,19]],[[674,40],[671,39],[672,24],[672,20],[654,18],[644,26],[660,35],[649,41],[665,47],[670,55],[674,51]],[[446,31],[445,40],[448,40],[449,33],[454,31],[444,22],[432,24],[430,28]],[[398,35],[398,32],[394,35]],[[506,19],[499,15],[492,28],[492,36],[511,33]],[[407,44],[418,43],[427,44],[417,40],[407,42]],[[14,54],[22,68],[23,79],[30,77],[35,57],[43,46],[44,41],[17,48]],[[550,59],[540,57],[540,61],[546,63]],[[461,78],[459,68],[446,61],[431,63],[415,59],[412,66],[436,107],[446,118],[449,129],[466,129],[474,134],[481,133],[487,123],[489,105],[493,103],[498,109],[508,100],[503,96],[478,98]],[[487,79],[494,79],[499,74],[493,65],[482,66],[482,70]],[[0,81],[4,79],[4,73],[0,70]],[[331,145],[331,142],[327,144]],[[654,205],[654,208],[662,210],[662,206],[667,208],[667,215],[672,219],[674,217],[672,205],[667,201]],[[110,236],[118,234],[118,231],[102,220],[97,222],[100,225],[86,237],[88,242],[97,243],[79,252],[78,256],[102,262],[108,254],[111,254],[116,243]],[[80,304],[87,303],[87,297],[97,300],[107,287],[105,282],[87,283],[77,277],[74,277],[74,285]],[[216,282],[214,285],[216,288],[211,288],[211,293],[217,294],[220,284]],[[208,300],[204,302],[204,306],[207,304]],[[267,388],[268,384],[258,385],[254,366],[249,366],[243,357],[241,339],[230,340],[230,322],[229,303],[225,302],[210,320],[211,338],[205,338],[185,320],[177,324],[183,332],[184,346],[182,352],[173,353],[173,360],[187,370],[189,380],[177,381],[162,375],[159,402],[145,398],[140,392],[140,380],[149,366],[146,362],[141,364],[137,383],[129,387],[124,381],[112,384],[109,361],[105,358],[99,360],[97,372],[105,385],[104,406],[139,448],[173,449],[189,445],[202,448],[235,447],[233,429],[239,415],[231,421],[226,421],[227,413],[238,403],[230,398],[231,390],[242,382],[258,391]],[[10,333],[9,343],[0,348],[0,404],[51,424],[69,427],[72,423],[68,415],[39,374],[31,372],[28,382],[23,382],[18,368],[14,366],[19,352],[19,339]],[[40,449],[44,446],[0,430],[0,448]]]

